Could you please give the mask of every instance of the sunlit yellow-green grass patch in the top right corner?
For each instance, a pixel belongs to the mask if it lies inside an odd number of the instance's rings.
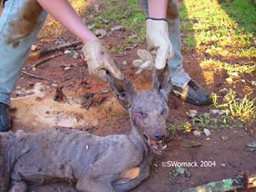
[[[186,36],[188,46],[216,43],[220,48],[235,46],[249,49],[255,46],[256,10],[249,1],[185,0],[180,6],[181,27],[188,26],[182,20],[190,21],[193,38]],[[240,6],[242,5],[242,6]],[[186,27],[189,30],[188,27]],[[186,43],[187,44],[187,43]],[[221,52],[220,52],[221,53]]]

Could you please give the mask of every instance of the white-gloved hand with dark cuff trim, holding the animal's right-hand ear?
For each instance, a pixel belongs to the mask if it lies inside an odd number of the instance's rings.
[[[146,46],[151,52],[156,50],[154,67],[161,70],[174,57],[174,49],[169,40],[166,20],[146,19]]]

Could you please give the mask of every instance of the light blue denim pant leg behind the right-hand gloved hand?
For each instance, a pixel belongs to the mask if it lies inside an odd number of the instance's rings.
[[[144,6],[144,11],[148,14],[148,1],[141,0],[142,6]],[[178,16],[178,3],[177,0],[169,0],[167,8],[167,21],[169,29],[169,39],[174,48],[174,58],[169,61],[169,69],[171,80],[174,85],[180,87],[185,86],[190,77],[188,73],[183,70],[183,58],[181,55],[181,31],[179,26],[179,16]]]

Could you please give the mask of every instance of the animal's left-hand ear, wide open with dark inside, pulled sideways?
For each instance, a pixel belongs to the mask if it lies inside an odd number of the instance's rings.
[[[124,78],[124,80],[117,80],[110,74],[107,74],[106,77],[114,97],[116,97],[119,104],[128,111],[132,105],[132,100],[137,95],[132,81],[126,78]]]

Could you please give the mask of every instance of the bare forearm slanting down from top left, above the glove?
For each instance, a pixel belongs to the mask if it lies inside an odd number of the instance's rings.
[[[37,0],[48,14],[53,16],[65,28],[68,28],[82,43],[97,39],[97,37],[85,26],[68,0]]]

